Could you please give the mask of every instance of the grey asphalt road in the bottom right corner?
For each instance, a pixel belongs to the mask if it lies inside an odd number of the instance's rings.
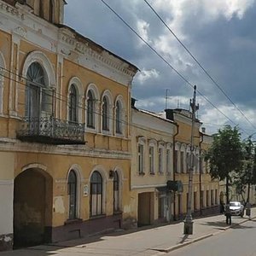
[[[172,256],[256,256],[256,220],[220,231],[216,236],[166,253]]]

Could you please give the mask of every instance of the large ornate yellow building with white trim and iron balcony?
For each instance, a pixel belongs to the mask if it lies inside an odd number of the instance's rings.
[[[131,215],[137,67],[61,25],[64,4],[0,0],[0,250]]]

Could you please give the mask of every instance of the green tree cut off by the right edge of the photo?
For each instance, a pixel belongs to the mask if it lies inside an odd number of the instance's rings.
[[[251,185],[256,183],[256,150],[252,142],[252,136],[247,137],[243,142],[243,165],[241,172],[237,172],[234,184],[236,191],[242,196],[245,205],[250,200]],[[247,189],[247,198],[244,199],[243,195]]]

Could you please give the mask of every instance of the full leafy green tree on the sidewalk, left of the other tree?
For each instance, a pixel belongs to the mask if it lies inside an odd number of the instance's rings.
[[[230,202],[229,191],[232,172],[239,172],[242,166],[241,134],[237,127],[225,125],[213,135],[213,142],[205,156],[210,163],[212,178],[226,181],[226,203]]]

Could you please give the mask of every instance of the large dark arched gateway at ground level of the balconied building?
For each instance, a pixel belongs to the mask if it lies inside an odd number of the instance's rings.
[[[14,247],[51,241],[52,178],[36,168],[15,177]]]

